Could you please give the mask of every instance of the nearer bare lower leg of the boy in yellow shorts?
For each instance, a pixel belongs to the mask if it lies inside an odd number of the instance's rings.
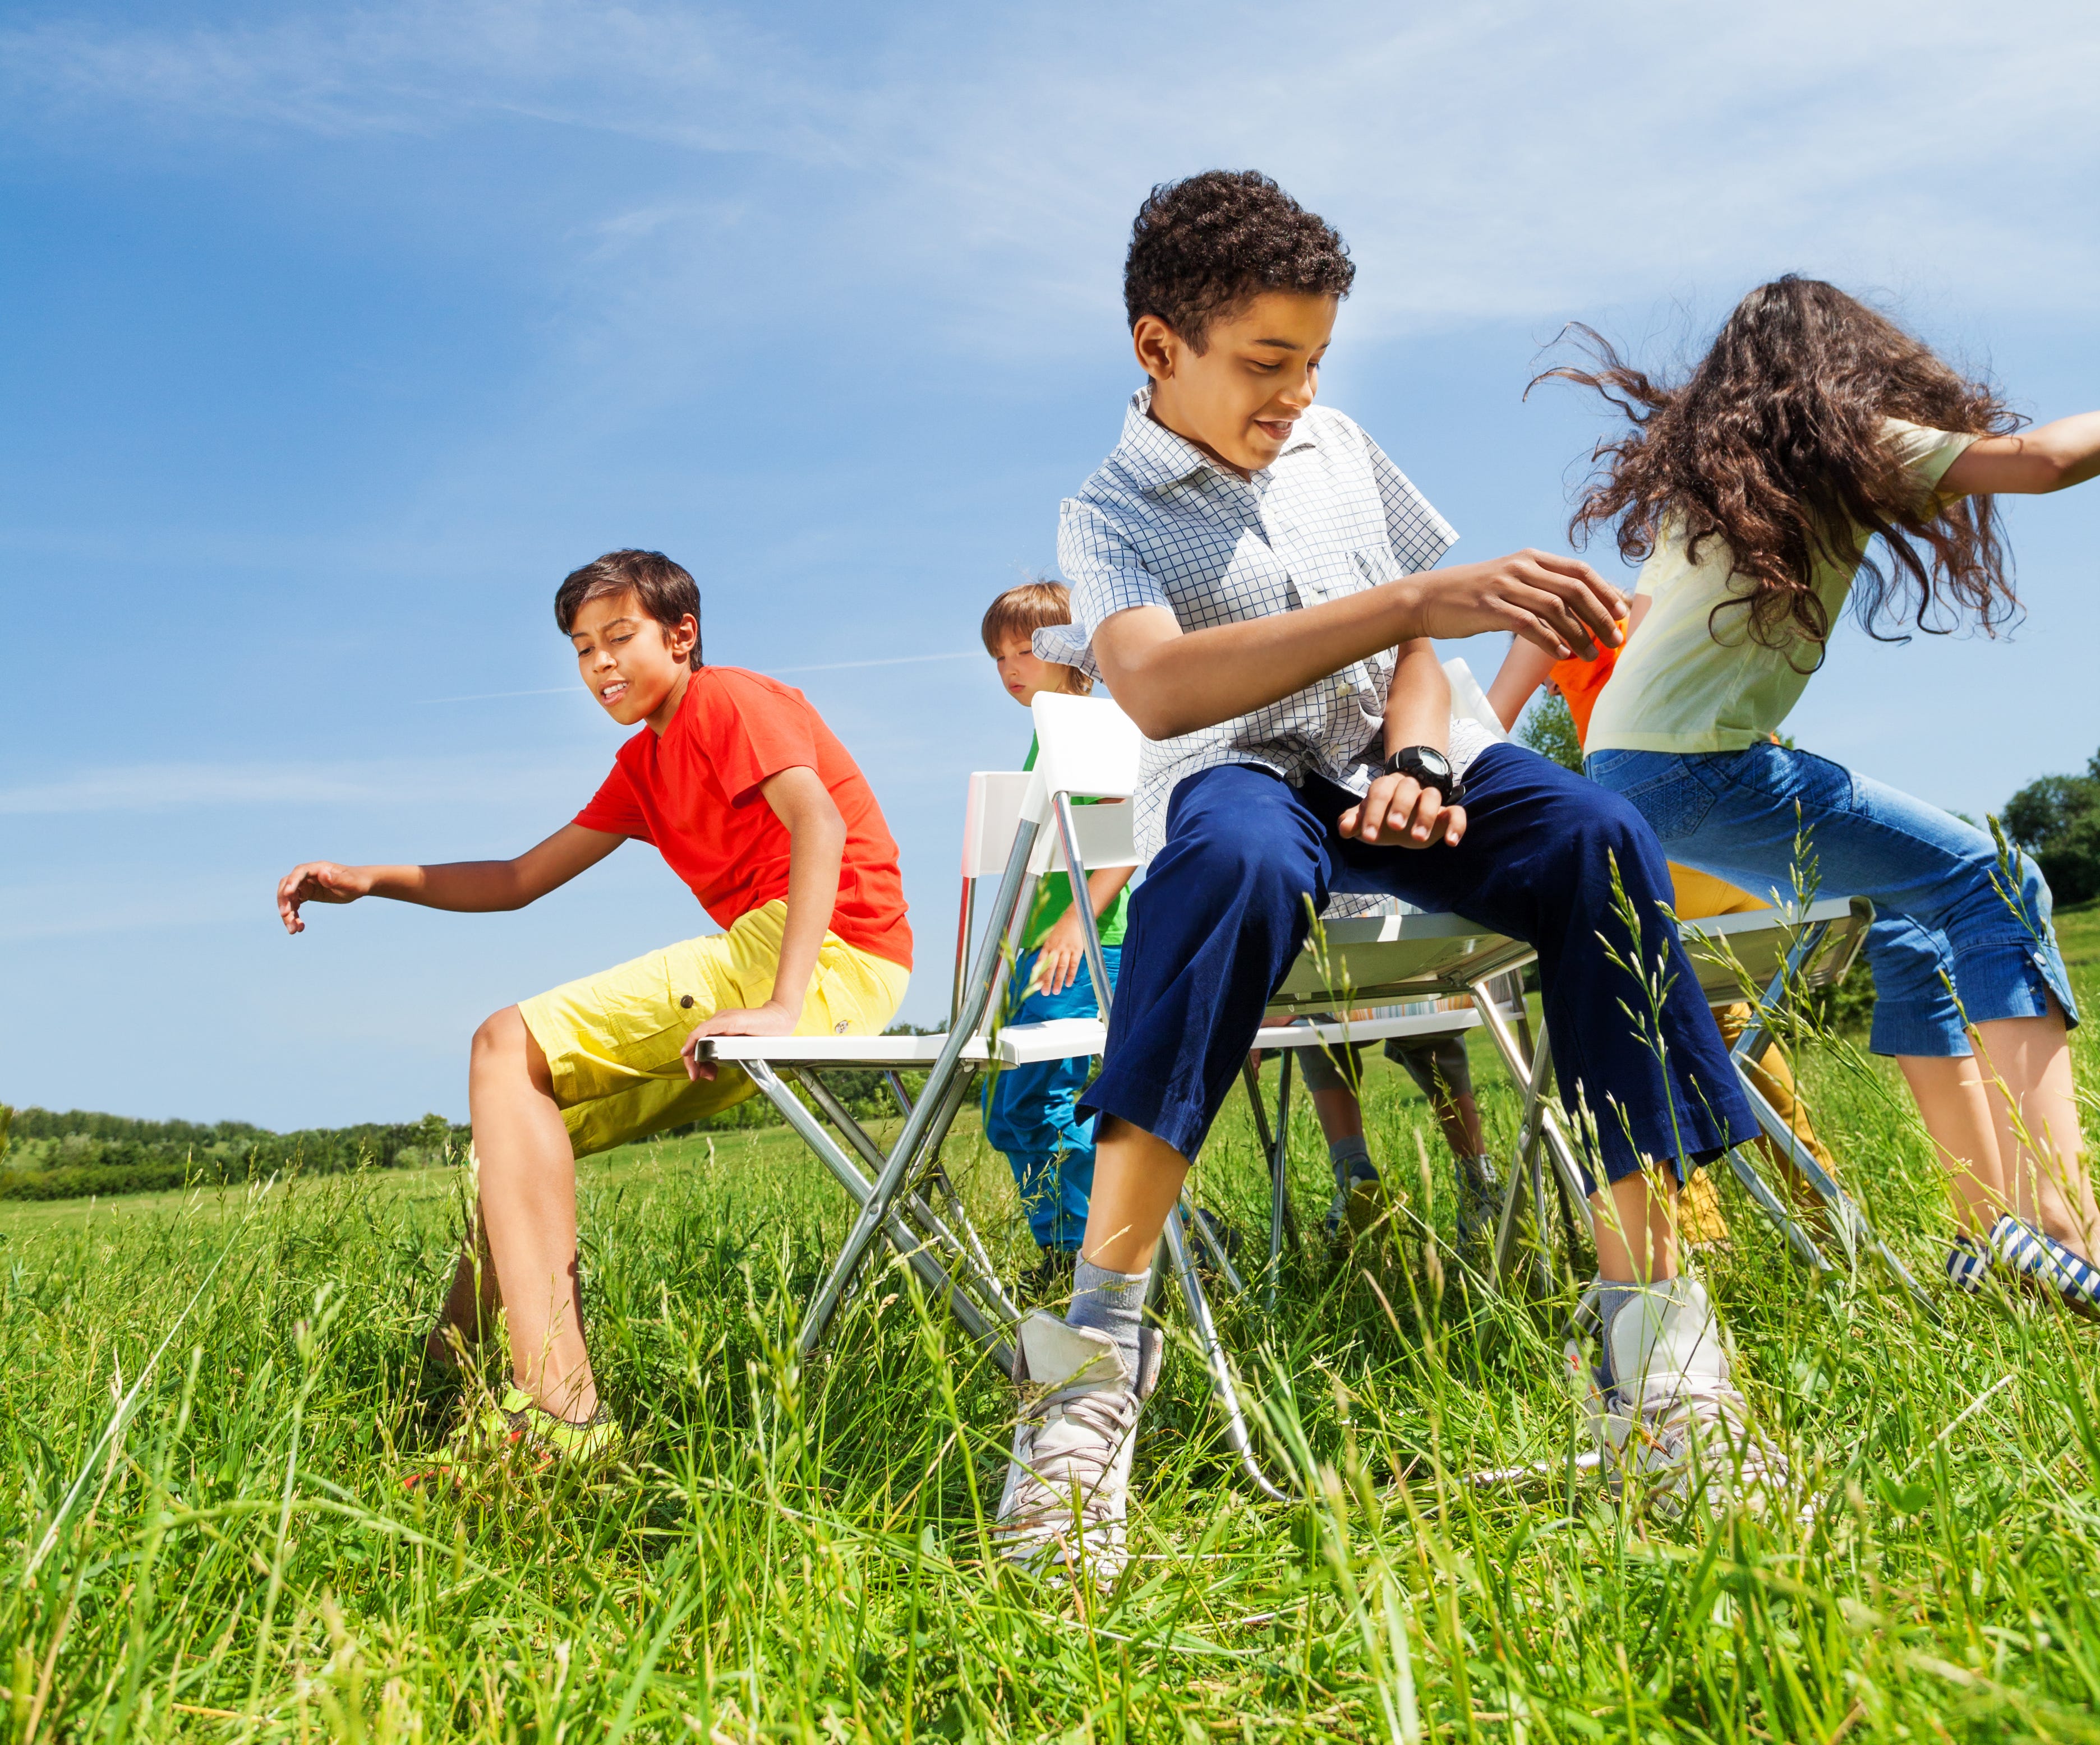
[[[546,1056],[517,1006],[475,1031],[466,1079],[489,1254],[510,1319],[510,1378],[556,1417],[598,1409],[575,1270],[575,1153]]]

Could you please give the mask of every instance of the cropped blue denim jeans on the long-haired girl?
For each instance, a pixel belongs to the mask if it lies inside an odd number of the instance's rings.
[[[1785,745],[1596,752],[1590,777],[1648,821],[1672,861],[1789,899],[1796,859],[1827,897],[1867,897],[1875,1054],[1961,1056],[1966,1025],[2079,1021],[2050,886],[1989,832],[1844,764]],[[1949,985],[1951,983],[1951,985]]]

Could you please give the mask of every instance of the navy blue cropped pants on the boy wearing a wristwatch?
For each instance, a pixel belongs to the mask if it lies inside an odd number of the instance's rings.
[[[1350,890],[1449,909],[1539,953],[1560,1100],[1606,1178],[1642,1157],[1682,1170],[1756,1134],[1659,907],[1670,865],[1625,800],[1518,745],[1491,745],[1466,771],[1457,848],[1344,842],[1336,819],[1352,804],[1331,781],[1298,790],[1243,764],[1176,785],[1166,848],[1130,899],[1109,1048],[1082,1113],[1115,1115],[1193,1157],[1310,913]],[[1640,920],[1638,955],[1613,903],[1613,865]],[[1651,979],[1661,966],[1659,1023],[1598,934]]]

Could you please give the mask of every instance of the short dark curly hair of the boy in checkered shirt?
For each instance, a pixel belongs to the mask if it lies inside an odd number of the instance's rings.
[[[1357,262],[1317,212],[1260,170],[1205,170],[1159,183],[1130,227],[1124,309],[1157,315],[1203,351],[1210,323],[1268,290],[1348,296]]]

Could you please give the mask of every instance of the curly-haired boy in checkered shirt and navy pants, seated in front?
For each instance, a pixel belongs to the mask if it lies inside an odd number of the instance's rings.
[[[1147,735],[1134,823],[1149,867],[1082,1100],[1096,1115],[1082,1260],[1067,1319],[1021,1327],[998,1527],[1008,1556],[1096,1581],[1128,1556],[1130,1453],[1159,1367],[1140,1319],[1153,1249],[1336,892],[1457,911],[1537,949],[1560,1094],[1594,1113],[1609,1180],[1600,1436],[1680,1497],[1785,1476],[1747,1426],[1705,1294],[1676,1270],[1678,1172],[1754,1128],[1661,907],[1661,848],[1623,800],[1455,720],[1430,643],[1514,630],[1564,657],[1617,645],[1623,601],[1535,550],[1432,569],[1451,527],[1354,422],[1315,405],[1352,279],[1334,229],[1268,176],[1153,189],[1124,271],[1147,382],[1063,504],[1073,624],[1035,634],[1044,659],[1107,678]],[[1674,972],[1661,1035],[1628,1023],[1638,995],[1600,932]]]

